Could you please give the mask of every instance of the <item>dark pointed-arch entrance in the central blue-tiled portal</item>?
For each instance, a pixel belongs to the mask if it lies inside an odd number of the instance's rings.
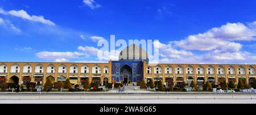
[[[120,75],[121,75],[121,79],[123,84],[128,84],[130,82],[132,82],[132,76],[133,76],[133,69],[131,69],[130,66],[128,65],[124,65],[121,67],[120,69]]]

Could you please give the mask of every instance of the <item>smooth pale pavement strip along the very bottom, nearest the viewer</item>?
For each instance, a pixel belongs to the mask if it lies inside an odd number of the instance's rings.
[[[180,100],[0,100],[1,104],[256,104],[246,99],[180,99]]]

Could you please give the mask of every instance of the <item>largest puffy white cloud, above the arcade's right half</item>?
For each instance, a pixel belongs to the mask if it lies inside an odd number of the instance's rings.
[[[220,28],[212,28],[205,33],[189,35],[186,39],[174,41],[175,46],[187,50],[228,50],[237,52],[242,45],[233,41],[254,40],[256,32],[242,23],[227,23]]]

